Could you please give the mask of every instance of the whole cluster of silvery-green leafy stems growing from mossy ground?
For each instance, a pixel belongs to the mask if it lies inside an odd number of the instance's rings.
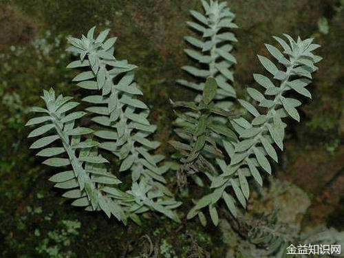
[[[269,159],[278,162],[274,145],[283,150],[286,123],[282,119],[290,116],[300,120],[296,107],[301,105],[301,101],[290,92],[311,97],[305,87],[310,84],[312,73],[317,69],[314,64],[321,61],[321,57],[312,54],[320,47],[312,43],[312,39],[298,38],[295,41],[286,34],[287,41],[275,37],[282,50],[268,44],[266,47],[278,64],[258,56],[272,78],[263,74],[253,76],[264,88],[264,93],[248,88],[248,95],[257,105],[239,100],[252,119],[233,116],[228,111],[230,105],[217,100],[235,96],[228,83],[228,80],[233,80],[228,68],[235,63],[235,58],[229,54],[232,45],[227,42],[235,41],[235,36],[223,31],[224,28],[236,28],[234,14],[226,3],[202,1],[202,4],[206,16],[195,11],[191,14],[208,27],[193,22],[188,24],[202,32],[206,41],[192,37],[186,37],[186,41],[202,48],[203,54],[193,50],[186,50],[186,54],[207,64],[208,70],[184,69],[207,79],[200,85],[179,80],[182,85],[202,94],[193,102],[171,101],[175,109],[186,111],[175,111],[178,116],[175,132],[182,140],[170,143],[182,156],[181,171],[191,175],[203,173],[210,182],[211,193],[195,202],[187,218],[198,215],[202,224],[206,224],[203,208],[208,207],[213,224],[217,225],[219,200],[224,200],[230,213],[237,217],[237,202],[246,208],[250,178],[262,186],[261,171],[272,172]],[[92,28],[81,39],[69,38],[72,45],[68,48],[78,56],[78,60],[68,67],[83,69],[73,80],[79,87],[87,89],[85,92],[89,95],[83,98],[87,112],[71,113],[78,105],[70,101],[71,97],[56,96],[53,89],[44,91],[42,98],[46,108],[33,108],[33,111],[44,115],[27,123],[28,126],[43,125],[28,137],[52,134],[36,140],[31,148],[45,148],[37,153],[47,158],[43,164],[69,167],[50,180],[56,183],[56,187],[67,189],[63,196],[75,199],[72,202],[74,206],[83,206],[87,211],[103,211],[108,217],[114,215],[123,223],[127,223],[129,217],[140,224],[138,214],[146,211],[158,211],[180,222],[173,211],[180,202],[175,201],[166,188],[163,176],[170,165],[163,162],[164,156],[152,153],[160,143],[150,140],[156,127],[147,119],[149,108],[138,99],[142,92],[134,82],[134,69],[137,67],[114,57],[116,38],[106,39],[109,30],[100,32],[96,38],[94,31]],[[76,126],[76,120],[87,113],[96,126],[92,129]],[[229,127],[228,118],[233,128]],[[55,144],[57,140],[59,146]],[[110,151],[121,161],[120,172],[130,171],[132,184],[127,191],[118,188],[121,183],[119,177],[108,171],[108,160],[101,155],[103,150]],[[260,231],[252,229],[251,233],[252,239],[257,235],[259,238]]]

